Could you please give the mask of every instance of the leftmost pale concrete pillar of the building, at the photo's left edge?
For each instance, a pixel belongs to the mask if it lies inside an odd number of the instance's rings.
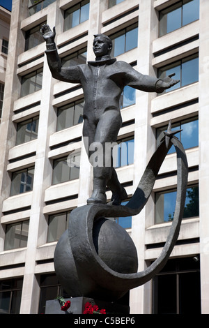
[[[20,80],[17,76],[17,57],[24,49],[24,38],[20,31],[20,22],[26,17],[26,8],[22,1],[13,0],[13,13],[10,22],[10,41],[3,98],[3,112],[0,129],[0,214],[2,204],[10,195],[10,174],[7,172],[8,151],[15,145],[15,126],[12,121],[14,101],[20,96]],[[0,226],[0,251],[3,251],[4,231]]]

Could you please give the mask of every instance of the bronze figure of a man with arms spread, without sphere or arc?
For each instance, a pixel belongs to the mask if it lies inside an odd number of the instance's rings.
[[[105,144],[116,142],[121,128],[119,100],[123,88],[127,85],[142,91],[162,93],[164,89],[172,87],[179,81],[173,80],[171,78],[173,75],[169,75],[164,80],[143,75],[125,61],[111,59],[111,39],[104,34],[95,35],[93,40],[95,61],[67,68],[62,67],[54,42],[55,27],[52,31],[47,24],[44,24],[41,31],[47,45],[45,53],[52,76],[64,82],[79,83],[84,90],[83,136],[86,137],[85,140],[88,140],[85,147],[90,162],[92,152],[98,144],[102,144],[104,162],[102,166],[91,163],[93,165],[93,193],[87,200],[87,204],[105,204],[106,186],[112,192],[112,203],[121,204],[121,201],[127,198],[127,194],[118,181],[112,158],[111,165],[105,166],[105,163],[109,163],[109,158],[105,158],[107,156]]]

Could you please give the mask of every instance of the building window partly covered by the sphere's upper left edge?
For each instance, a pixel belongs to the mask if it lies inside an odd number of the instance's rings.
[[[68,228],[70,211],[49,215],[47,243],[58,241]]]

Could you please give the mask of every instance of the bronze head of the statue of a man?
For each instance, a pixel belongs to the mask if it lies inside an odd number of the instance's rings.
[[[109,36],[95,34],[93,40],[93,52],[95,57],[107,56],[111,53],[112,43]]]

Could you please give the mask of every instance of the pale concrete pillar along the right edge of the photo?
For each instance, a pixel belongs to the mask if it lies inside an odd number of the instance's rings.
[[[201,258],[201,311],[209,313],[209,31],[207,13],[209,2],[200,0],[199,31],[199,207]]]

